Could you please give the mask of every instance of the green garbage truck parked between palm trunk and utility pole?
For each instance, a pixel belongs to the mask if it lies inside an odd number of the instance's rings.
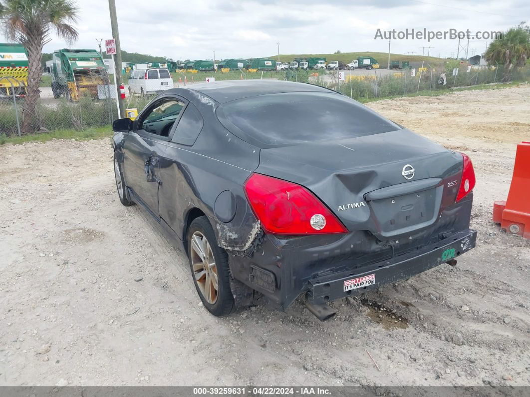
[[[81,95],[89,95],[98,99],[98,86],[107,82],[107,70],[98,51],[70,48],[54,51],[51,68],[54,98],[66,96],[77,101]]]

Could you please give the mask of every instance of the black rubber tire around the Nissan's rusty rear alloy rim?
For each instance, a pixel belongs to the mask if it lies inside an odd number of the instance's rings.
[[[209,272],[210,275],[214,276],[214,280],[215,275],[217,275],[217,292],[215,301],[213,303],[213,298],[211,296],[214,295],[212,293],[213,290],[210,289],[210,297],[205,296],[207,292],[202,292],[201,290],[205,289],[206,291],[205,286],[208,283],[209,279],[207,277],[207,270],[205,267],[206,265],[204,263],[208,263],[209,261],[208,259],[203,261],[202,266],[204,266],[204,270],[200,270],[201,264],[198,262],[200,262],[201,258],[197,254],[197,251],[192,248],[194,235],[198,239],[201,239],[202,237],[206,238],[207,243],[209,245],[209,253],[207,253],[207,256],[210,258],[213,256],[213,258],[211,259],[213,259],[215,263],[215,271],[211,270],[213,268],[210,268]],[[201,235],[202,237],[200,237]],[[215,316],[224,316],[232,313],[235,310],[235,302],[234,296],[232,295],[232,290],[230,289],[230,270],[228,267],[228,254],[224,249],[220,248],[217,245],[217,239],[215,237],[214,230],[211,227],[210,221],[206,216],[201,216],[193,219],[193,222],[191,222],[191,225],[188,229],[187,239],[191,278],[193,279],[193,284],[195,284],[195,288],[197,289],[197,293],[199,294],[202,304],[204,305],[204,307],[207,308],[207,310],[211,314]],[[203,247],[206,246],[206,243],[204,243],[204,239],[201,240],[201,244]],[[205,249],[205,251],[208,251],[208,249]],[[195,270],[193,266],[194,262],[196,263]],[[204,274],[205,286],[202,285],[202,276],[199,277],[199,275],[201,274]],[[200,286],[197,278],[199,278],[200,280]]]

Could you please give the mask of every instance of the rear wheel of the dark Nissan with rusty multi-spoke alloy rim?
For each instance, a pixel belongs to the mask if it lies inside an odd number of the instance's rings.
[[[216,316],[232,313],[235,304],[229,282],[228,254],[217,245],[206,216],[193,219],[189,227],[188,257],[202,304]]]

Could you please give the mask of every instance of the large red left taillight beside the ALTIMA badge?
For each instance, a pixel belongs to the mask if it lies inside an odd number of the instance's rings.
[[[339,219],[299,184],[252,174],[246,197],[266,232],[272,234],[347,233]]]

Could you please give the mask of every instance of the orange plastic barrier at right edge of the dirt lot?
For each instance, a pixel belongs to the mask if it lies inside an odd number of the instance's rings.
[[[493,222],[530,239],[530,142],[517,145],[508,198],[493,203]]]

